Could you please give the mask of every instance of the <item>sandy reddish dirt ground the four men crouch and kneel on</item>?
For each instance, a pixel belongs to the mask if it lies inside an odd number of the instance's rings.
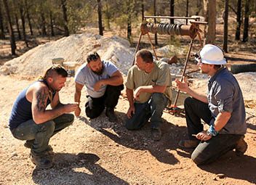
[[[255,54],[249,58],[255,59]],[[31,163],[24,141],[13,138],[8,128],[17,94],[33,79],[11,75],[0,79],[0,184],[256,184],[255,106],[246,110],[245,155],[237,157],[231,151],[215,163],[196,166],[190,159],[193,150],[177,145],[186,136],[185,118],[164,112],[162,139],[152,141],[149,123],[139,131],[124,128],[129,104],[120,96],[118,123],[108,122],[105,113],[89,120],[82,111],[72,126],[52,137],[55,165],[41,170]],[[73,78],[68,78],[60,91],[61,102],[72,102],[74,90]],[[84,104],[84,91],[81,100]]]

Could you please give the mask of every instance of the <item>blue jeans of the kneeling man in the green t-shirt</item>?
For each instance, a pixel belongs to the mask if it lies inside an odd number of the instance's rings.
[[[151,118],[151,128],[158,128],[162,123],[164,107],[167,106],[168,99],[164,94],[153,93],[151,99],[143,104],[135,103],[135,114],[127,119],[125,127],[128,130],[142,128]]]

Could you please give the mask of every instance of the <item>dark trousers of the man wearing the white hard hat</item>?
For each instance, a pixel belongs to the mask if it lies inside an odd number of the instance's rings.
[[[188,126],[188,138],[196,139],[192,134],[197,134],[204,130],[201,119],[209,125],[212,119],[211,112],[208,104],[191,97],[185,99],[184,107]],[[191,159],[197,165],[212,163],[218,157],[234,149],[236,143],[243,136],[238,134],[218,134],[217,136],[212,136],[211,139],[199,143],[193,151]]]

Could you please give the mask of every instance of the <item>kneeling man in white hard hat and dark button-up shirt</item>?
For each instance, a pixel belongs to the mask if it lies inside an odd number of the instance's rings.
[[[196,148],[191,158],[197,165],[211,163],[229,150],[237,155],[247,150],[244,134],[244,99],[239,83],[225,65],[223,51],[207,44],[196,57],[201,73],[209,75],[208,94],[191,89],[186,82],[176,80],[177,88],[192,97],[185,99],[188,140],[179,143],[183,148]],[[201,119],[209,125],[204,131]]]

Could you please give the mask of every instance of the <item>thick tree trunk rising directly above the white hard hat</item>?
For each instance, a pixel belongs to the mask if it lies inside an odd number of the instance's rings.
[[[216,34],[216,0],[204,0],[204,17],[208,22],[204,30],[204,44],[214,43]]]

